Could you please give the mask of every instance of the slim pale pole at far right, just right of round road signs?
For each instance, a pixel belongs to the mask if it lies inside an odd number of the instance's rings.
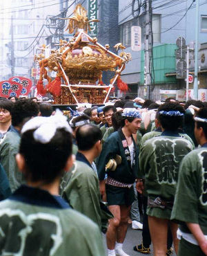
[[[195,15],[195,73],[193,93],[195,100],[198,99],[198,82],[197,82],[197,67],[198,67],[198,41],[199,41],[199,0],[196,0],[196,15]]]

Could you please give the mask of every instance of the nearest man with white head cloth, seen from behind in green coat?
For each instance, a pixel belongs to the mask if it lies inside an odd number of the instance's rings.
[[[105,255],[98,226],[59,196],[61,175],[73,162],[70,132],[60,113],[23,126],[16,158],[26,185],[0,203],[1,255]]]

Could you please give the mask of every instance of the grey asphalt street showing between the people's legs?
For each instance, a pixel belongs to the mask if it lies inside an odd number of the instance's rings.
[[[135,250],[133,250],[133,247],[136,244],[141,244],[141,230],[133,230],[131,228],[131,225],[128,226],[128,232],[126,234],[126,239],[124,241],[124,251],[125,253],[127,253],[130,256],[141,256],[144,255],[142,253],[137,253],[135,252]],[[103,238],[104,244],[106,245],[106,239],[105,237]],[[152,252],[152,246],[150,246],[151,248],[151,254],[148,255],[153,255]],[[175,256],[176,254],[173,253],[172,256]]]

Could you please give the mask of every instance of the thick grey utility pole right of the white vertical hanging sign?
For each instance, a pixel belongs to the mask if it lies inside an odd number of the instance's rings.
[[[152,58],[152,15],[150,12],[152,11],[152,0],[146,0],[146,32],[145,32],[145,40],[144,40],[144,97],[147,99],[151,99],[151,67],[150,61]]]

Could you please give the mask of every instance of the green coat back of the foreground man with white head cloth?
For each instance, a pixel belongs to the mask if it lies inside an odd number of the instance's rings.
[[[105,255],[97,225],[45,190],[22,186],[0,203],[0,254]]]

